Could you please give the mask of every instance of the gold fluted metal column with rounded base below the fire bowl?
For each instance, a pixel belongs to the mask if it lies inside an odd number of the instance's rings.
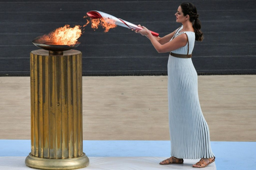
[[[66,162],[71,162],[71,167],[82,160],[79,167],[85,167],[89,162],[82,147],[82,53],[69,50],[54,56],[35,50],[30,62],[31,153],[26,165],[50,169],[53,161],[70,159]]]

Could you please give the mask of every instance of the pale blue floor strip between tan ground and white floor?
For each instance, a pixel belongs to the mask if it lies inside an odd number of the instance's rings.
[[[217,170],[255,170],[256,142],[211,142]],[[0,140],[0,156],[27,156],[30,140]],[[170,141],[83,141],[90,157],[170,156]],[[1,159],[1,158],[0,158]]]

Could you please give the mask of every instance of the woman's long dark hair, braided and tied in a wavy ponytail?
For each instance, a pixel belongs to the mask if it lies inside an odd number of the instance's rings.
[[[184,2],[181,5],[184,16],[189,15],[189,20],[193,24],[195,32],[195,40],[203,41],[203,33],[201,29],[201,22],[199,20],[199,14],[197,14],[197,8],[192,3]]]

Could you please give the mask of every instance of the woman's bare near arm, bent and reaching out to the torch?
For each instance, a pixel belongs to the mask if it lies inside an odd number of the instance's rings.
[[[187,44],[187,37],[186,37],[185,34],[181,34],[181,35],[175,37],[173,40],[167,41],[167,37],[169,38],[175,32],[168,34],[165,39],[162,39],[163,42],[165,42],[165,43],[161,44],[159,42],[160,40],[157,41],[154,38],[154,36],[151,34],[151,32],[146,27],[144,27],[144,26],[142,26],[142,27],[143,27],[143,29],[140,30],[140,31],[137,31],[137,32],[141,33],[141,35],[147,36],[150,39],[150,41],[151,41],[152,45],[154,46],[154,48],[159,53],[173,51],[173,50],[181,48],[181,47],[183,47],[183,46],[185,46]]]

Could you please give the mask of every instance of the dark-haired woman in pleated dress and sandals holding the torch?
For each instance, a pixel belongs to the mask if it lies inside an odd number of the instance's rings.
[[[161,165],[181,164],[183,159],[200,159],[193,168],[203,168],[215,161],[210,146],[209,128],[198,98],[197,72],[191,56],[194,42],[203,40],[197,9],[182,3],[175,14],[182,26],[164,37],[154,37],[144,26],[141,33],[159,52],[169,52],[168,105],[171,157]],[[140,25],[139,25],[140,26]]]

